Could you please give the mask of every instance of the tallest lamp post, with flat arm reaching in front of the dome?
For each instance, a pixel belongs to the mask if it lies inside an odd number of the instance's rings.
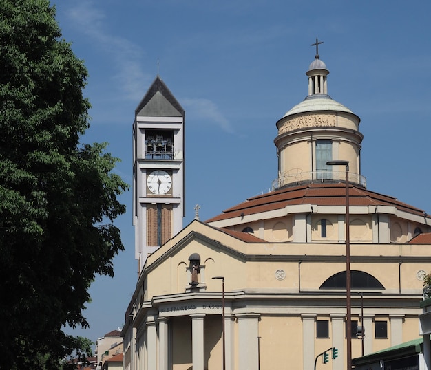
[[[350,213],[348,199],[348,161],[333,160],[326,162],[327,166],[346,166],[346,344],[347,370],[352,369],[352,302],[350,296]]]

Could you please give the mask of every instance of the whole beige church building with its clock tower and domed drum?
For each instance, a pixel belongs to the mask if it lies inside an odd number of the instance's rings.
[[[185,112],[151,85],[134,122],[124,369],[341,370],[346,334],[353,358],[419,337],[431,217],[368,190],[360,118],[328,95],[328,74],[317,52],[308,96],[275,124],[272,191],[185,228]]]

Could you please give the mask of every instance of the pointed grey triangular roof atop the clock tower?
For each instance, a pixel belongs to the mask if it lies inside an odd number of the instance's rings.
[[[135,111],[136,116],[155,117],[181,117],[184,112],[160,76],[156,77]]]

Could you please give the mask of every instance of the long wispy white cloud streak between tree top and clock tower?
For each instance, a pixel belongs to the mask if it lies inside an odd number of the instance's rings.
[[[106,30],[105,14],[95,8],[92,1],[74,3],[68,17],[74,27],[83,32],[101,52],[109,54],[114,61],[117,72],[114,76],[116,85],[123,90],[123,98],[139,100],[142,97],[143,85],[151,82],[148,74],[143,72],[143,50],[129,40],[109,34]]]

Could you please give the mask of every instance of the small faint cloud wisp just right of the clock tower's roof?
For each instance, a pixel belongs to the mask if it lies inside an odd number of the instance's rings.
[[[202,120],[202,122],[215,124],[223,131],[233,133],[233,127],[229,123],[229,120],[223,116],[220,109],[214,102],[211,102],[211,100],[202,98],[182,98],[181,104],[184,105],[187,115],[193,116],[196,120]]]

